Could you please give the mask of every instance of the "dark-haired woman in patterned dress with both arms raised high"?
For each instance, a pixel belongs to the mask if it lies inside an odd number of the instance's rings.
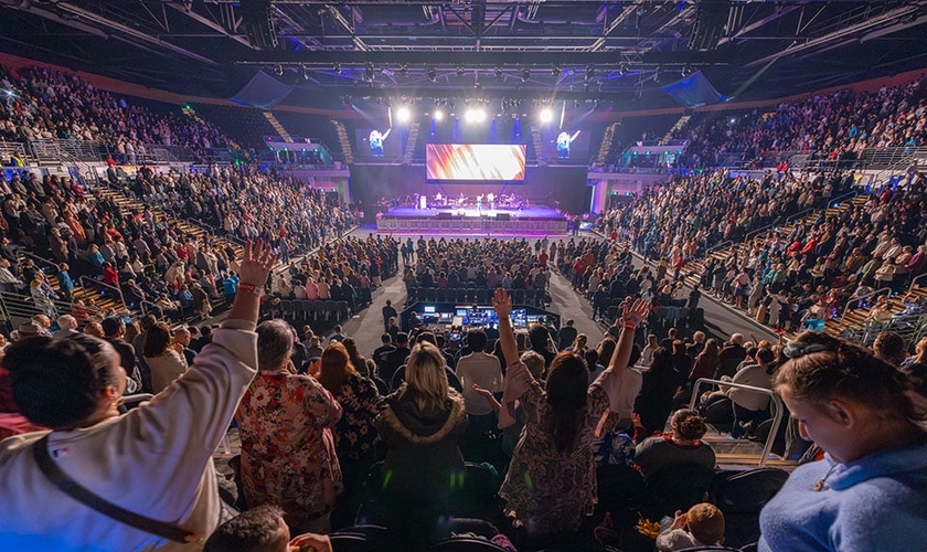
[[[616,321],[622,331],[611,362],[592,385],[585,361],[564,351],[551,364],[546,391],[519,361],[509,320],[511,297],[499,289],[492,306],[509,362],[500,427],[513,422],[509,413],[515,401],[525,413],[524,429],[499,491],[505,501],[505,514],[532,537],[578,531],[598,499],[592,448],[596,425],[606,408],[617,412],[633,400],[625,396],[627,390],[639,389],[633,380],[640,375],[628,370],[628,363],[635,328],[647,318],[649,306],[637,300],[632,307],[625,307]]]

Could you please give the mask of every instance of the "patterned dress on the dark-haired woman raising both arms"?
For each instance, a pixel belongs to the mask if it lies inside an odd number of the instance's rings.
[[[522,370],[528,369],[521,363],[509,367],[507,378]],[[534,533],[576,531],[597,502],[592,444],[596,424],[608,407],[608,395],[598,383],[589,386],[576,446],[562,455],[550,429],[553,410],[541,385],[532,381],[519,401],[525,426],[499,491],[505,500],[505,514],[514,518],[515,527]]]

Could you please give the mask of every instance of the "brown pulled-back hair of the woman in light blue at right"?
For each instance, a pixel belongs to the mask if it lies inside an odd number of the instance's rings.
[[[786,346],[788,360],[776,372],[774,389],[799,401],[849,399],[886,417],[927,420],[916,407],[912,382],[869,349],[825,333],[805,331]]]

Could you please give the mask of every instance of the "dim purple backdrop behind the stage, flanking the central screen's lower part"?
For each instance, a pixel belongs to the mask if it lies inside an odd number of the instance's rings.
[[[434,198],[440,192],[457,198],[479,194],[516,193],[533,204],[548,205],[568,213],[588,210],[590,188],[586,185],[586,166],[528,167],[524,182],[429,182],[425,166],[351,164],[351,197],[363,206],[367,222],[376,214],[381,199],[405,198],[426,193]]]

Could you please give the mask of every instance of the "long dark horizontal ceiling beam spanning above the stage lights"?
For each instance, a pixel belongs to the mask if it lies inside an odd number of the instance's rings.
[[[303,64],[309,66],[396,64],[420,66],[462,65],[465,67],[504,65],[618,65],[625,63],[617,52],[251,52],[235,63],[239,65]],[[650,52],[642,64],[729,65],[724,52]]]

